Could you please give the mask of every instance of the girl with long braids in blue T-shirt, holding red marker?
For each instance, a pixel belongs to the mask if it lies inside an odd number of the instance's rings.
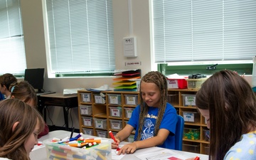
[[[174,149],[177,114],[173,106],[167,103],[167,79],[159,72],[151,71],[141,80],[140,104],[132,112],[127,125],[115,135],[117,148],[119,142],[129,137],[136,129],[134,142],[122,146],[118,154],[132,154],[137,149],[160,146]]]

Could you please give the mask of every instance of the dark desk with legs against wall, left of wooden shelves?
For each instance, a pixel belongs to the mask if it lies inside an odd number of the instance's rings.
[[[38,110],[43,114],[46,121],[46,108],[48,106],[63,107],[65,129],[68,130],[68,110],[73,107],[78,107],[77,95],[63,95],[63,93],[53,93],[38,96]]]

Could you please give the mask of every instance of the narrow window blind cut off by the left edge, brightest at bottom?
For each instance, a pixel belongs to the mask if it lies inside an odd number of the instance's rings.
[[[0,75],[26,69],[20,0],[0,0]]]

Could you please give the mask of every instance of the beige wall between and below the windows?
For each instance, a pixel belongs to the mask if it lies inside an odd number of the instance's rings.
[[[152,70],[151,50],[149,34],[149,0],[131,0],[132,2],[132,33],[129,28],[129,0],[113,0],[114,15],[114,46],[116,54],[117,69],[142,69],[142,75]],[[47,68],[46,41],[43,26],[43,0],[22,0],[21,12],[23,18],[23,33],[26,49],[27,68]],[[122,38],[127,36],[137,37],[137,58],[125,58],[123,56]],[[125,62],[139,61],[140,66],[124,65]],[[100,87],[101,85],[112,85],[110,78],[48,78],[46,75],[44,89],[55,92],[63,92],[64,88],[76,87]],[[49,107],[50,119],[53,124],[63,126],[63,111],[60,107]],[[72,110],[74,127],[79,128],[78,109]],[[48,120],[48,124],[51,122]],[[71,125],[71,120],[70,120]]]

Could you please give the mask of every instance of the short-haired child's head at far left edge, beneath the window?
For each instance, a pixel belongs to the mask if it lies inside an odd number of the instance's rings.
[[[11,97],[11,90],[9,90],[10,85],[16,82],[17,78],[15,78],[14,75],[10,73],[6,73],[0,76],[0,91],[2,94],[6,95],[6,99]]]

